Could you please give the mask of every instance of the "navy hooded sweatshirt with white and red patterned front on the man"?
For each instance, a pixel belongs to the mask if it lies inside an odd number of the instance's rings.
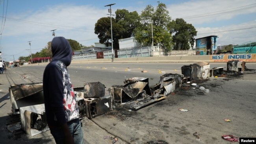
[[[79,110],[67,70],[72,57],[69,42],[64,37],[54,37],[51,45],[52,61],[45,68],[43,91],[47,123],[54,127],[79,118]]]

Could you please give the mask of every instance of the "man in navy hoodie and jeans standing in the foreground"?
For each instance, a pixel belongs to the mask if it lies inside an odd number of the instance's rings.
[[[57,144],[83,144],[79,110],[67,70],[72,50],[64,37],[54,37],[51,45],[52,61],[43,75],[47,123]]]

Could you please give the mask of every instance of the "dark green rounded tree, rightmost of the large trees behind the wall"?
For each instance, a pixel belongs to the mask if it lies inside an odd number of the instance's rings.
[[[183,18],[176,18],[169,23],[170,33],[174,33],[174,50],[188,50],[193,48],[197,31],[192,24],[187,24]],[[189,46],[191,44],[191,47]]]

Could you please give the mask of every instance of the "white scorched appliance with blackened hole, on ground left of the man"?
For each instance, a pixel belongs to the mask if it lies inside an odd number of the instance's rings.
[[[46,122],[45,104],[20,107],[21,128],[34,136],[49,130]]]

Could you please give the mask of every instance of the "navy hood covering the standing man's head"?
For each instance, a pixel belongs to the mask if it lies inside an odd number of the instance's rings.
[[[66,66],[69,66],[72,58],[72,49],[69,41],[64,37],[54,37],[52,39],[52,61],[62,61]]]

